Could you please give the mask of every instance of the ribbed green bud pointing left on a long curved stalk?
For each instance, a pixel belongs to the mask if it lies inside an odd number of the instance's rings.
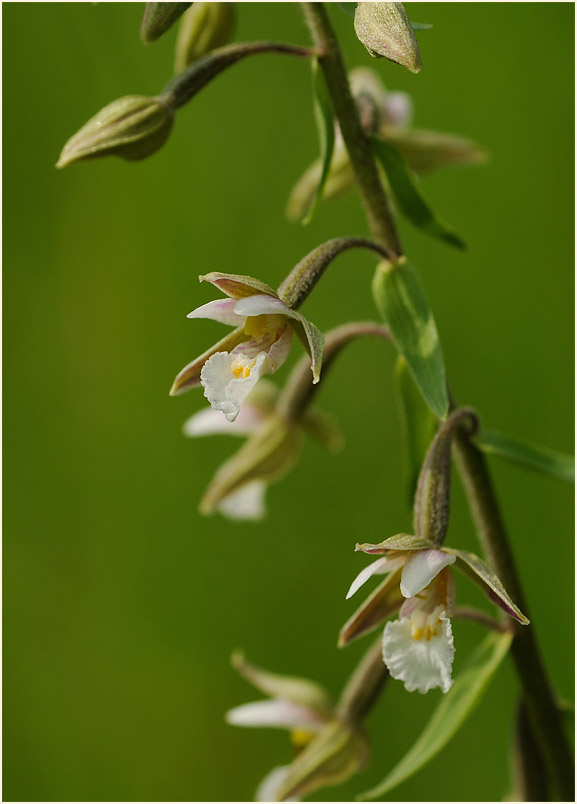
[[[109,154],[130,160],[144,159],[164,145],[172,122],[172,109],[159,98],[140,95],[119,98],[101,109],[68,140],[56,167]]]

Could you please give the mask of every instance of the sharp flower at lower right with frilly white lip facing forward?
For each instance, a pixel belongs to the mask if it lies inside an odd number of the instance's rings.
[[[373,575],[386,574],[388,577],[381,585],[381,599],[386,601],[391,586],[400,580],[404,602],[400,606],[399,619],[385,625],[383,660],[391,676],[403,681],[409,692],[418,690],[425,693],[435,687],[448,692],[453,683],[451,670],[455,648],[449,619],[455,597],[454,579],[449,569],[452,564],[475,580],[490,600],[509,616],[522,625],[529,623],[488,564],[466,550],[441,547],[428,539],[406,534],[393,536],[380,544],[357,545],[356,549],[372,555],[382,554],[383,557],[359,573],[347,597],[351,597]],[[374,601],[378,597],[378,594],[371,596],[371,605],[361,607],[355,615],[354,628],[359,635],[367,630],[363,624],[365,618],[370,619],[370,627],[377,624]],[[390,613],[390,609],[387,611],[383,607],[380,621]],[[347,641],[354,637],[349,626]]]

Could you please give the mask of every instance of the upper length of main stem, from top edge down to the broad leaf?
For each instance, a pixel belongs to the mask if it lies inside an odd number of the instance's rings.
[[[392,252],[393,258],[400,256],[403,250],[393,213],[351,95],[347,71],[325,4],[302,3],[302,8],[313,41],[322,52],[319,63],[361,191],[371,233],[378,243]]]

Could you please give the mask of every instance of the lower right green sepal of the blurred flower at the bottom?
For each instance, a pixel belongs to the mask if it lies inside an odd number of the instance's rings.
[[[276,800],[300,801],[315,790],[342,784],[363,767],[367,758],[364,732],[335,720],[291,762]]]

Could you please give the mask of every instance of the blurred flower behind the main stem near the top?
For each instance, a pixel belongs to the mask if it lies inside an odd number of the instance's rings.
[[[393,145],[409,167],[423,174],[451,165],[471,165],[486,160],[485,151],[475,142],[456,134],[411,128],[413,104],[405,92],[388,92],[379,75],[368,67],[349,74],[353,97],[367,133]],[[354,186],[355,179],[347,148],[338,123],[335,147],[323,198],[336,198]],[[322,174],[321,160],[314,162],[294,186],[286,208],[290,220],[301,220],[315,196]]]

